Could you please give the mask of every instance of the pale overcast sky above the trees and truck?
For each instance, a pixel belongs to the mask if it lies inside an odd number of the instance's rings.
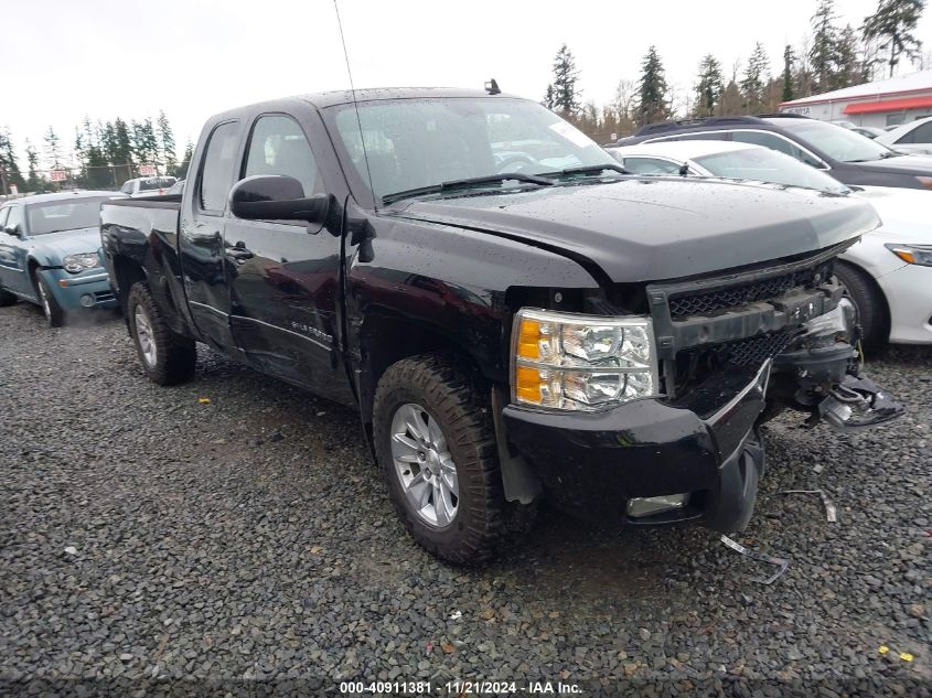
[[[49,125],[68,149],[92,119],[154,117],[164,109],[179,150],[213,112],[261,99],[349,86],[333,0],[53,0],[2,10],[0,125],[36,146]],[[877,0],[839,0],[858,26]],[[636,79],[656,44],[668,82],[695,79],[705,53],[730,75],[754,42],[771,68],[808,32],[816,0],[341,0],[356,87],[481,87],[540,99],[566,42],[585,99],[610,100]],[[932,47],[932,10],[918,35]],[[903,66],[904,68],[907,66]],[[903,69],[901,72],[908,72]]]

